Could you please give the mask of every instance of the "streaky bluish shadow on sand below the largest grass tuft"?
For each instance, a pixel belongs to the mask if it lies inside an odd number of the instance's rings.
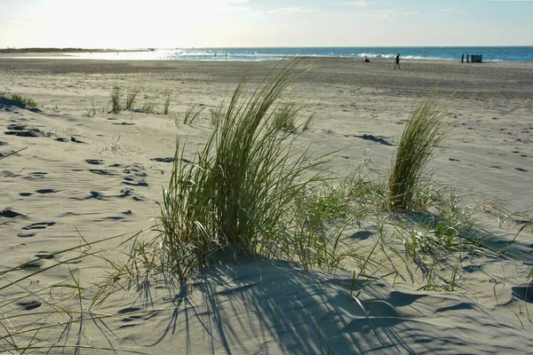
[[[394,330],[402,322],[394,308],[369,307],[350,296],[349,275],[343,279],[296,266],[263,259],[202,269],[187,291],[168,299],[174,304],[171,319],[147,346],[177,336],[187,353],[414,352]],[[379,297],[366,297],[373,296]],[[387,320],[377,327],[375,319]],[[203,343],[191,338],[202,333]]]

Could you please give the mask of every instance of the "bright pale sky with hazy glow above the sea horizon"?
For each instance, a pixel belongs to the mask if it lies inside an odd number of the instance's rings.
[[[533,0],[0,0],[0,48],[533,45]]]

